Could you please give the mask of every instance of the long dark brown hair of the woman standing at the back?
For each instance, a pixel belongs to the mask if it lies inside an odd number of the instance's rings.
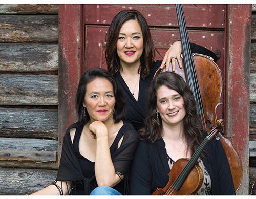
[[[112,75],[115,75],[121,68],[120,60],[117,54],[116,43],[119,37],[119,32],[123,24],[127,20],[138,21],[142,36],[143,36],[143,53],[140,57],[140,68],[138,73],[143,79],[150,73],[155,57],[153,39],[151,37],[150,28],[147,25],[146,19],[137,10],[123,10],[119,12],[110,24],[108,33],[106,34],[106,52],[105,58],[108,64],[108,70]]]

